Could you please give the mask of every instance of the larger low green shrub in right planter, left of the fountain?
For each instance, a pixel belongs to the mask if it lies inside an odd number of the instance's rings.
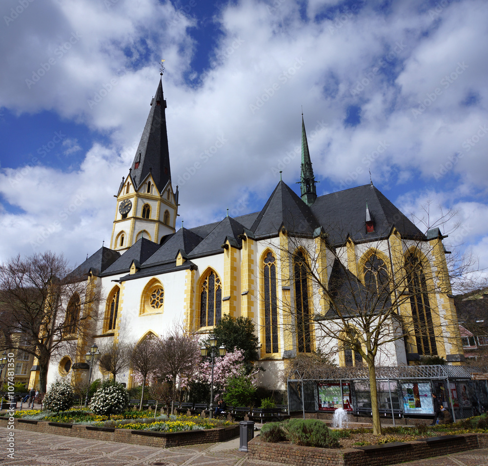
[[[295,445],[334,448],[337,437],[318,419],[290,419],[283,424],[286,438]]]

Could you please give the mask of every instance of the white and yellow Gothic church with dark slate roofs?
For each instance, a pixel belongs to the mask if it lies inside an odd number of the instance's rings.
[[[353,348],[340,341],[323,346],[323,322],[333,326],[338,312],[325,291],[342,290],[352,300],[366,282],[374,281],[377,289],[382,280],[392,283],[398,264],[410,267],[411,281],[402,291],[408,298],[395,312],[410,324],[405,335],[383,347],[380,364],[409,365],[424,355],[462,364],[449,279],[437,273],[447,270],[439,229],[421,232],[372,182],[317,196],[303,116],[300,196],[280,180],[258,212],[177,229],[180,204],[165,111],[160,81],[134,161],[114,186],[110,247],[75,270],[87,287],[100,290],[102,300],[87,308],[68,306],[76,315],[66,321],[91,315],[97,328],[79,337],[76,354],[51,362],[48,385],[60,376],[88,380],[84,355],[94,343],[139,342],[149,333],[164,334],[175,322],[204,338],[225,314],[254,323],[261,344],[256,364],[265,369],[259,383],[270,389],[284,388],[280,374],[299,353],[320,349],[337,365],[360,364]],[[310,262],[320,284],[309,277],[304,264]],[[357,289],[345,287],[351,277]],[[390,292],[394,301],[397,289]],[[354,312],[349,314],[353,322]],[[94,367],[92,380],[107,376]],[[29,385],[37,378],[33,370]],[[129,371],[117,380],[133,385]]]

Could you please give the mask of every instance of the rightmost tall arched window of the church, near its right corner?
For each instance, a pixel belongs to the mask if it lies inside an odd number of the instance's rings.
[[[424,267],[419,258],[413,254],[408,255],[406,267],[417,352],[421,355],[436,355],[437,345]]]

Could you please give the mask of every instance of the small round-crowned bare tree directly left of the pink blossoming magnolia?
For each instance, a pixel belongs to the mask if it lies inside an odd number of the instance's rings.
[[[160,339],[159,349],[159,375],[167,377],[173,384],[171,400],[171,413],[174,403],[178,381],[189,377],[200,361],[200,345],[194,335],[184,333],[182,329],[175,328]]]

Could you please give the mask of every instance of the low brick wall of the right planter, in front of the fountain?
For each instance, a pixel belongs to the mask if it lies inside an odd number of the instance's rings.
[[[247,451],[255,460],[293,466],[385,466],[480,448],[488,443],[488,434],[464,434],[458,437],[435,443],[413,441],[400,445],[385,444],[384,448],[368,451],[357,448],[333,449],[273,444],[261,442],[258,436],[247,444]]]

